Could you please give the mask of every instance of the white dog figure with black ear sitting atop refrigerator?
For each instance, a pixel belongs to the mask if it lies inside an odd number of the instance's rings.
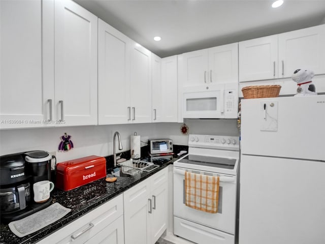
[[[316,87],[311,80],[313,77],[313,71],[303,69],[295,70],[294,74],[291,76],[298,85],[295,97],[317,95]]]

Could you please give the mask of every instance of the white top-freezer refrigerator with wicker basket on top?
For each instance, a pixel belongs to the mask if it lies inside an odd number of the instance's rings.
[[[241,109],[239,244],[324,244],[325,95]]]

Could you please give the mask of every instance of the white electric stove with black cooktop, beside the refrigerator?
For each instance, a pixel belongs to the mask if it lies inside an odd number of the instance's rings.
[[[235,243],[239,137],[189,135],[188,154],[174,162],[174,234],[196,243]],[[185,205],[185,171],[218,175],[218,212]]]

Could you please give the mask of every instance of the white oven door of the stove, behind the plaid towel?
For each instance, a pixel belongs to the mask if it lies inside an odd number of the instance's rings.
[[[218,212],[216,214],[197,210],[185,205],[185,171],[220,176]],[[174,216],[235,234],[236,184],[237,178],[234,175],[174,167]]]

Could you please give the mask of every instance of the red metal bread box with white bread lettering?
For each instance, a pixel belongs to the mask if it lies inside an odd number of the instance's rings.
[[[56,187],[69,191],[106,177],[106,159],[88,156],[56,165]]]

